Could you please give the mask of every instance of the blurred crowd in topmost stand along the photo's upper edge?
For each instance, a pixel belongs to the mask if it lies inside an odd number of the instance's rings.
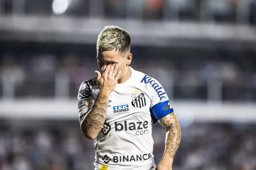
[[[53,1],[2,0],[0,15],[54,15]],[[255,0],[72,0],[63,15],[256,24],[255,11]]]

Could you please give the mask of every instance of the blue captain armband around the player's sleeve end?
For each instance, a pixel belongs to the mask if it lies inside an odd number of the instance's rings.
[[[172,112],[173,108],[168,100],[158,103],[150,109],[153,123]]]

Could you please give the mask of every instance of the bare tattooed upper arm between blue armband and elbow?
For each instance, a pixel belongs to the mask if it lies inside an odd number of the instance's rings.
[[[178,119],[174,112],[167,114],[158,120],[159,124],[165,128],[165,130],[169,130],[171,127],[179,126]]]

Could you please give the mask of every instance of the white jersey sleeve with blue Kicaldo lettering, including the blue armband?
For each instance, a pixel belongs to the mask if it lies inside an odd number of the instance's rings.
[[[147,84],[148,93],[151,96],[150,113],[153,123],[156,123],[157,120],[172,113],[173,108],[163,86],[157,80],[145,75],[142,82]]]

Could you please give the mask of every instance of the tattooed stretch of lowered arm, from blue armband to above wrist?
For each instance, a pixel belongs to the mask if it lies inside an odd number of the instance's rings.
[[[167,131],[165,151],[174,158],[181,140],[181,131],[177,117],[172,112],[159,120],[159,123]]]

